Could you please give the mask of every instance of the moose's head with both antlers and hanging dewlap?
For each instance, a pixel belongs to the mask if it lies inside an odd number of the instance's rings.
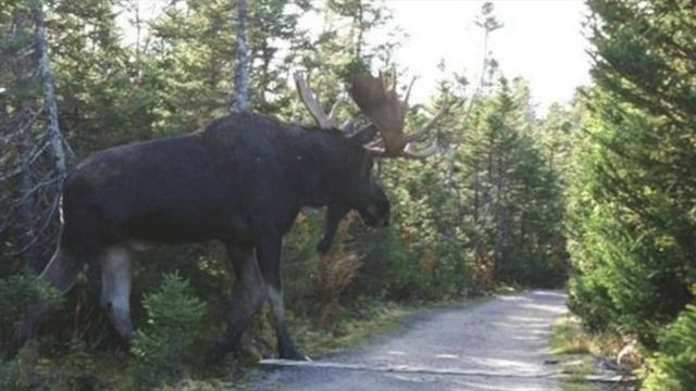
[[[338,126],[336,113],[341,100],[338,100],[326,114],[309,88],[309,80],[299,73],[294,75],[298,94],[321,129],[339,130],[345,137],[359,146],[360,174],[350,186],[349,200],[346,203],[328,205],[325,234],[318,250],[326,252],[336,232],[338,223],[350,210],[359,212],[362,220],[372,227],[382,227],[389,220],[389,202],[384,190],[375,179],[373,164],[375,157],[425,159],[437,151],[437,143],[426,150],[414,152],[412,144],[425,138],[433,126],[445,114],[446,106],[440,109],[423,127],[412,134],[405,134],[408,99],[413,79],[408,87],[406,98],[400,100],[396,92],[396,76],[390,87],[385,83],[382,73],[378,76],[359,74],[352,76],[348,85],[348,93],[368,123],[357,126],[356,122],[346,122]],[[380,134],[378,139],[374,139]],[[350,178],[346,178],[350,180]]]

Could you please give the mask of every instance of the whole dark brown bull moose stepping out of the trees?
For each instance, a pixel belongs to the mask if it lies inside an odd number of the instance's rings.
[[[83,269],[98,270],[100,304],[128,343],[129,252],[146,243],[220,240],[236,282],[226,331],[213,342],[209,360],[238,346],[266,298],[279,357],[307,360],[294,346],[284,319],[284,234],[302,207],[327,206],[321,252],[328,250],[349,211],[357,211],[368,226],[386,226],[389,202],[373,175],[374,160],[424,159],[436,152],[435,143],[420,152],[411,146],[444,110],[406,135],[410,86],[400,100],[396,81],[387,86],[382,74],[360,74],[349,80],[348,93],[368,122],[339,127],[336,106],[326,114],[308,79],[295,74],[295,81],[316,127],[238,112],[182,137],[96,152],[75,166],[63,185],[58,247],[39,278],[66,292]],[[377,134],[382,137],[374,140]],[[21,338],[35,332],[46,312],[40,305],[34,308]]]

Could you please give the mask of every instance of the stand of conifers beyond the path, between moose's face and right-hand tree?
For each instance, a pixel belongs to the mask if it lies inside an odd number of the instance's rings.
[[[444,88],[436,101],[458,98]],[[564,277],[557,171],[529,135],[529,93],[502,80],[492,97],[463,104],[442,125],[453,142],[440,159],[387,161],[388,229],[358,235],[365,255],[356,290],[390,300],[475,293],[500,281],[558,286]],[[527,91],[529,92],[529,91]],[[520,98],[522,97],[522,98]],[[418,124],[422,117],[409,118]],[[415,126],[414,126],[415,127]]]

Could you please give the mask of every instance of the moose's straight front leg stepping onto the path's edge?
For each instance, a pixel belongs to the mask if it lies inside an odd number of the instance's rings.
[[[273,308],[275,336],[278,345],[278,356],[287,360],[309,361],[295,349],[290,335],[285,325],[285,308],[283,304],[283,288],[281,286],[281,235],[261,240],[257,247],[257,258],[261,275],[265,282],[266,293]]]

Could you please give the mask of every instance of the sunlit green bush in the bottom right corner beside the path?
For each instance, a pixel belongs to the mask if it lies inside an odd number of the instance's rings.
[[[696,305],[687,305],[660,336],[658,352],[648,360],[646,390],[691,390],[696,384]]]

